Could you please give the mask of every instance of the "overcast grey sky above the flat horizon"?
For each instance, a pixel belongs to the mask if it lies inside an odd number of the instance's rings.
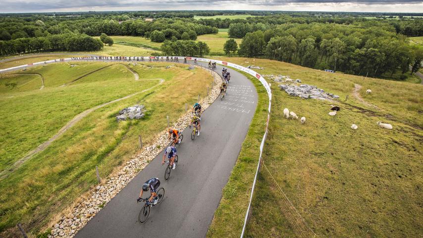
[[[0,2],[0,12],[105,10],[423,12],[422,0],[0,0]]]

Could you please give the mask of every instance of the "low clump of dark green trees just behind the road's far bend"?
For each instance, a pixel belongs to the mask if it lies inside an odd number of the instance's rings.
[[[160,49],[166,56],[203,57],[210,52],[206,43],[192,40],[165,41]]]

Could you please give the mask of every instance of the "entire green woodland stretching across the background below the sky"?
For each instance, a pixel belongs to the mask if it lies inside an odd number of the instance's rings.
[[[243,19],[224,15],[249,14]],[[216,16],[218,18],[194,18]],[[221,16],[223,15],[223,16]],[[242,38],[231,55],[281,60],[318,69],[392,77],[418,70],[422,47],[408,37],[423,36],[423,13],[281,11],[113,11],[0,14],[0,55],[42,51],[97,51],[99,39],[140,36],[174,46],[198,47],[198,35],[228,28]],[[172,44],[166,43],[165,49]],[[206,46],[205,46],[206,47]],[[169,51],[196,52],[196,51]],[[207,51],[206,51],[207,52]],[[405,76],[402,76],[405,77]]]

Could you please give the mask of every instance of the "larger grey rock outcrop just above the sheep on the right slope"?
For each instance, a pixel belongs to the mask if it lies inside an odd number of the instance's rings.
[[[321,100],[328,100],[328,99],[337,99],[339,98],[338,95],[334,95],[332,93],[325,93],[323,89],[317,88],[314,85],[308,84],[300,84],[300,85],[287,85],[287,84],[280,84],[278,86],[281,90],[285,90],[287,94],[294,97],[300,98],[314,98],[314,99],[321,99]]]

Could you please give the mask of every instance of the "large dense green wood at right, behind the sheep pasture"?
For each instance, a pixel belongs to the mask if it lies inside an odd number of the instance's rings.
[[[238,54],[372,77],[404,74],[410,65],[416,71],[422,61],[422,48],[393,26],[377,24],[281,24],[246,33]]]

